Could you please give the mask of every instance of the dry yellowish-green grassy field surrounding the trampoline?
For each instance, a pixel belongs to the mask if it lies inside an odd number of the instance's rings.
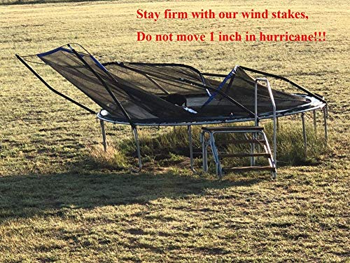
[[[348,2],[138,3],[0,6],[0,262],[349,262]],[[138,8],[290,8],[305,11],[309,20],[141,22]],[[325,31],[326,41],[136,41],[137,31],[247,30]],[[302,151],[288,153],[302,145],[301,121],[299,116],[281,120],[281,134],[288,136],[280,143],[289,146],[279,153],[286,163],[276,181],[264,173],[217,180],[212,174],[190,173],[186,151],[174,151],[186,141],[173,147],[172,128],[144,128],[146,169],[130,173],[128,166],[135,161],[127,156],[130,127],[107,126],[110,146],[104,154],[94,116],[47,90],[15,58],[15,53],[38,53],[69,42],[82,44],[102,62],[179,62],[203,72],[229,72],[239,64],[286,76],[328,100],[328,148],[318,147],[321,154],[310,152],[309,159],[291,165],[288,159]],[[52,86],[97,109],[48,69],[39,69]],[[323,143],[321,113],[318,135],[311,136],[311,114],[307,121],[311,151]]]

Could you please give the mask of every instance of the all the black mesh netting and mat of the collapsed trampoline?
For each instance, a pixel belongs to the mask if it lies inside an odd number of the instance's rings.
[[[57,48],[38,56],[119,121],[170,123],[249,116],[246,110],[232,100],[252,112],[254,110],[254,79],[239,67],[234,79],[225,83],[221,93],[216,94],[215,89],[221,82],[204,78],[193,67],[131,62],[109,62],[102,66],[90,54],[78,54],[92,70],[76,53],[66,48]],[[118,102],[113,100],[106,87]],[[167,97],[172,94],[185,97],[188,108],[169,102]],[[307,100],[297,95],[276,90],[273,90],[273,94],[277,110],[292,109],[307,103]],[[208,103],[209,97],[212,100]],[[267,88],[259,85],[259,114],[271,112],[271,105]]]

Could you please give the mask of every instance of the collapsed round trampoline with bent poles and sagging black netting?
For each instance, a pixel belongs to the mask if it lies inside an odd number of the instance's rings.
[[[327,137],[327,102],[324,98],[283,76],[260,70],[236,66],[228,74],[215,74],[174,63],[99,62],[76,43],[35,55],[16,54],[16,57],[50,90],[87,112],[97,114],[105,149],[104,122],[130,125],[137,144],[139,169],[142,164],[137,126],[188,126],[192,169],[190,128],[193,125],[243,121],[255,121],[258,125],[262,119],[273,119],[276,147],[276,121],[279,117],[301,114],[304,128],[305,112],[313,111],[316,127],[316,110],[322,109]],[[32,63],[52,67],[102,109],[96,112],[52,88],[34,70]],[[247,72],[265,78],[254,79]],[[289,83],[298,92],[272,89],[266,77]],[[305,129],[304,144],[306,147]]]

